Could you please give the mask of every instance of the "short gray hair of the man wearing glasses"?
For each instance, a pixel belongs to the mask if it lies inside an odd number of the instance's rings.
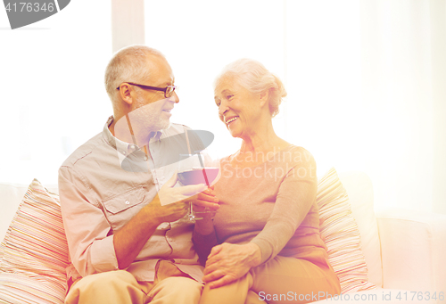
[[[160,51],[145,45],[130,45],[113,55],[105,69],[104,78],[105,89],[112,102],[118,95],[116,88],[121,83],[127,81],[140,83],[143,79],[149,78],[150,70],[147,69],[147,60],[151,55],[165,59]]]

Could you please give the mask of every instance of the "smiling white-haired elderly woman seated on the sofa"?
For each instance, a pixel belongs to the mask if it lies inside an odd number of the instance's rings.
[[[207,257],[201,303],[305,303],[341,290],[319,235],[315,160],[273,129],[285,95],[248,59],[217,78],[219,119],[243,142],[221,160],[218,212],[195,223],[195,248]]]

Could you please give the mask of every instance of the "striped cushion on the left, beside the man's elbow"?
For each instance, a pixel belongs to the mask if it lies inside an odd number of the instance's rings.
[[[34,179],[0,245],[0,302],[63,303],[67,265],[59,196]]]

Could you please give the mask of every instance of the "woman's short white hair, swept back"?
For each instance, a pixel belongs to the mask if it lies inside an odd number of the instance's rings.
[[[277,115],[279,105],[286,96],[282,81],[263,64],[252,59],[243,58],[229,63],[215,80],[214,87],[217,87],[223,78],[234,78],[240,86],[244,86],[252,94],[260,94],[268,90],[269,111],[272,117]]]

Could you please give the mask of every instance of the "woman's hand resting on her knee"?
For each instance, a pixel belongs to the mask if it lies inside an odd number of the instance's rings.
[[[206,261],[202,281],[217,288],[246,275],[252,267],[260,264],[260,247],[249,242],[243,245],[224,242],[212,248]]]

